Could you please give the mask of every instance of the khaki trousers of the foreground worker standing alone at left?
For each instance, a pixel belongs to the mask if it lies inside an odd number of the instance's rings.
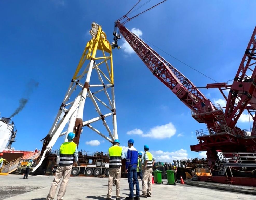
[[[52,181],[52,186],[49,191],[49,194],[47,195],[46,200],[53,200],[55,197],[55,193],[57,190],[57,187],[59,185],[60,179],[63,177],[62,182],[60,184],[59,192],[57,195],[57,200],[63,200],[63,196],[66,193],[66,188],[69,182],[69,177],[71,174],[71,169],[73,165],[70,166],[58,166],[57,170],[55,172],[55,178]]]

